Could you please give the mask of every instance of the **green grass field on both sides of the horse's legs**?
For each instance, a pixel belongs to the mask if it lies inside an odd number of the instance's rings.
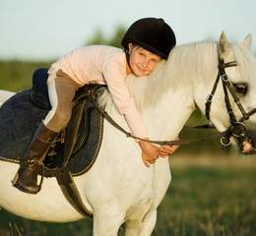
[[[154,236],[256,235],[255,165],[228,167],[232,161],[228,159],[226,166],[200,167],[175,167],[173,161],[171,185],[160,205]],[[52,224],[0,211],[2,230],[7,231],[10,221],[16,222],[23,235],[89,236],[93,227],[91,219]]]

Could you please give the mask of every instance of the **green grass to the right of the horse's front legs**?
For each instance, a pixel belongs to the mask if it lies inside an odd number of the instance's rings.
[[[254,168],[173,170],[155,235],[256,235]]]

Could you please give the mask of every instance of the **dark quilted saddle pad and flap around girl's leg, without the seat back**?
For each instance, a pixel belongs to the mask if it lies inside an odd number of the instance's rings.
[[[47,114],[47,110],[38,108],[32,103],[30,96],[30,89],[21,91],[0,107],[1,160],[19,163],[37,125]],[[74,130],[75,125],[78,126]],[[96,160],[102,131],[103,118],[91,101],[88,101],[83,109],[81,107],[79,112],[74,110],[67,128],[65,143],[57,145],[45,159],[46,176],[53,176],[54,172],[63,165],[65,145],[67,145],[66,149],[69,149],[65,157],[68,156],[68,167],[72,175],[77,176],[87,172]],[[75,136],[75,139],[72,136]]]

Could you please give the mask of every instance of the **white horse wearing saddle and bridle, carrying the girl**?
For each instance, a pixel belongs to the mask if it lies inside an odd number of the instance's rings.
[[[218,74],[218,45],[197,42],[178,46],[150,77],[127,79],[151,139],[174,140],[197,107],[204,112],[206,96]],[[247,92],[237,90],[246,110],[256,106],[256,59],[250,45],[250,34],[241,43],[229,44],[224,33],[220,40],[224,61],[238,63],[237,67],[226,69],[228,78],[234,86],[244,83],[249,87]],[[100,99],[110,116],[128,130],[109,94],[105,92]],[[241,117],[232,99],[231,105],[235,115]],[[219,131],[229,126],[221,85],[213,100],[211,121]],[[255,116],[248,125],[255,127]],[[55,179],[45,179],[35,196],[13,188],[11,180],[17,169],[15,163],[0,161],[1,207],[34,220],[67,222],[83,218],[65,200]],[[117,235],[123,222],[127,236],[150,236],[170,183],[169,161],[159,158],[150,168],[145,167],[136,141],[104,121],[103,141],[95,165],[74,180],[85,206],[94,214],[95,236]]]

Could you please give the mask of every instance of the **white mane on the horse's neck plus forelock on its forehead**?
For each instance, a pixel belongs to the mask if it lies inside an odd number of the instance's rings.
[[[256,59],[239,44],[231,44],[241,78],[255,84]],[[254,63],[254,66],[251,65]],[[188,89],[202,85],[212,88],[218,73],[218,43],[201,41],[175,47],[167,61],[162,61],[149,77],[127,78],[127,86],[139,109],[156,106],[166,91]],[[210,90],[209,90],[210,91]],[[111,103],[108,92],[101,97],[101,104]],[[108,102],[109,101],[109,102]]]

